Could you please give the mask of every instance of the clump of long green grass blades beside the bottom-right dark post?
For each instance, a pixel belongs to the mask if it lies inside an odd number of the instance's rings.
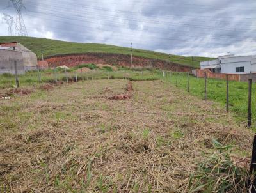
[[[205,155],[189,180],[189,192],[248,192],[248,170],[232,159],[232,146],[212,140],[215,152]]]

